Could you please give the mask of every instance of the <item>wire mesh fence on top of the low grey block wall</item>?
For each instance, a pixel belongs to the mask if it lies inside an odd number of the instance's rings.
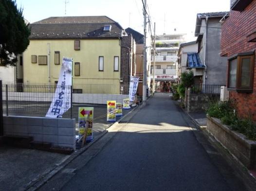
[[[51,107],[53,99],[59,100],[59,104],[65,104],[61,103],[64,99],[63,96],[70,96],[71,109],[65,113],[65,118],[72,118],[73,93],[71,93],[71,86],[23,85],[22,91],[20,87],[17,84],[2,86],[3,113],[5,115],[45,117],[48,110],[54,109]]]

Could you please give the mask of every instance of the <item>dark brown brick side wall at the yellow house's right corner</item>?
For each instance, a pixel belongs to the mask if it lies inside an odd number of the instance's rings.
[[[130,51],[132,47],[132,36],[123,36],[121,39],[121,61],[120,61],[120,77],[123,78],[122,84],[129,84],[130,76]],[[124,92],[128,94],[128,92]]]

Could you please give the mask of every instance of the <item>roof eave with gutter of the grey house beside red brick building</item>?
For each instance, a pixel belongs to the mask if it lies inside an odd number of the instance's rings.
[[[205,19],[206,17],[207,18],[229,17],[229,11],[212,12],[212,13],[198,13],[197,14],[197,21],[196,21],[195,36],[199,35],[202,19]]]

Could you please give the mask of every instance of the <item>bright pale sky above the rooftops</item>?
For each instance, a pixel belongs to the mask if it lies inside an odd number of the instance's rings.
[[[108,16],[143,34],[142,0],[16,0],[30,23],[47,17]],[[156,34],[187,34],[193,40],[197,13],[229,11],[230,0],[147,0]]]

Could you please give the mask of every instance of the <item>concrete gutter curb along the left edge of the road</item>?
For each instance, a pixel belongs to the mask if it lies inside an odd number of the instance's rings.
[[[108,129],[110,127],[113,127],[114,125],[119,124],[120,122],[122,122],[126,117],[129,116],[130,119],[139,111],[141,110],[141,106],[136,106],[134,107],[132,110],[130,110],[125,116],[121,117],[117,122],[114,122],[113,124],[111,124],[107,129],[105,129],[97,138],[93,139],[89,144],[85,145],[83,148],[79,149],[78,151],[73,152],[73,154],[71,154],[69,157],[64,158],[63,161],[61,161],[58,164],[55,164],[54,167],[52,167],[51,169],[47,170],[46,172],[38,175],[36,178],[34,178],[31,182],[29,182],[25,188],[19,189],[19,191],[36,191],[37,189],[39,189],[41,186],[43,186],[48,180],[50,180],[55,174],[57,174],[58,172],[60,172],[63,168],[65,168],[70,162],[72,162],[76,157],[80,156],[81,154],[83,154],[86,150],[88,150],[91,145],[93,145],[94,143],[96,143],[99,139],[101,139],[103,136],[105,136],[108,133]],[[137,110],[137,112],[134,112],[132,114],[132,112],[134,110]],[[125,123],[129,122],[130,119],[128,119],[128,121],[125,121]]]

